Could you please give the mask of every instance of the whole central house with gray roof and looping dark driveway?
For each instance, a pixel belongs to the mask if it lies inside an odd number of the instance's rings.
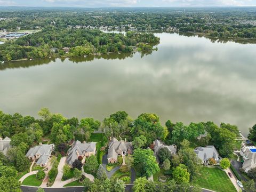
[[[132,142],[118,141],[116,138],[111,139],[108,144],[108,163],[116,163],[118,155],[131,155],[133,153]]]

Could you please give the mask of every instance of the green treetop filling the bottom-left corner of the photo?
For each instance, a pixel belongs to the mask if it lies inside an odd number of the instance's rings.
[[[0,178],[1,192],[22,192],[20,189],[20,182],[15,177],[1,177]]]

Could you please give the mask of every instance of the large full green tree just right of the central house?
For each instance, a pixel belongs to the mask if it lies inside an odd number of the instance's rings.
[[[133,164],[139,167],[142,176],[150,177],[160,171],[156,157],[150,149],[135,149],[133,158]]]

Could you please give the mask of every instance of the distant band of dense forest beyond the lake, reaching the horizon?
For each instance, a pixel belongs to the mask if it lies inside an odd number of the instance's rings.
[[[0,28],[100,28],[193,32],[218,38],[256,38],[255,7],[0,9]]]

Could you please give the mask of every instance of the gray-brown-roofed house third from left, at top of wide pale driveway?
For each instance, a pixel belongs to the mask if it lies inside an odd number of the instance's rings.
[[[96,153],[96,142],[86,143],[75,141],[73,146],[68,150],[67,163],[72,166],[73,162],[78,159],[85,159]]]

